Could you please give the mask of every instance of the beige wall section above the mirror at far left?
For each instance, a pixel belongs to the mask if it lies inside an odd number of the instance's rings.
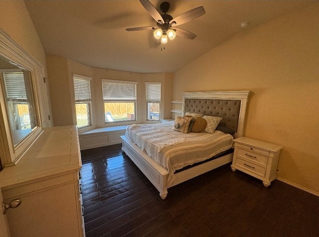
[[[24,1],[0,1],[0,28],[34,56],[44,66],[46,73],[45,52]]]

